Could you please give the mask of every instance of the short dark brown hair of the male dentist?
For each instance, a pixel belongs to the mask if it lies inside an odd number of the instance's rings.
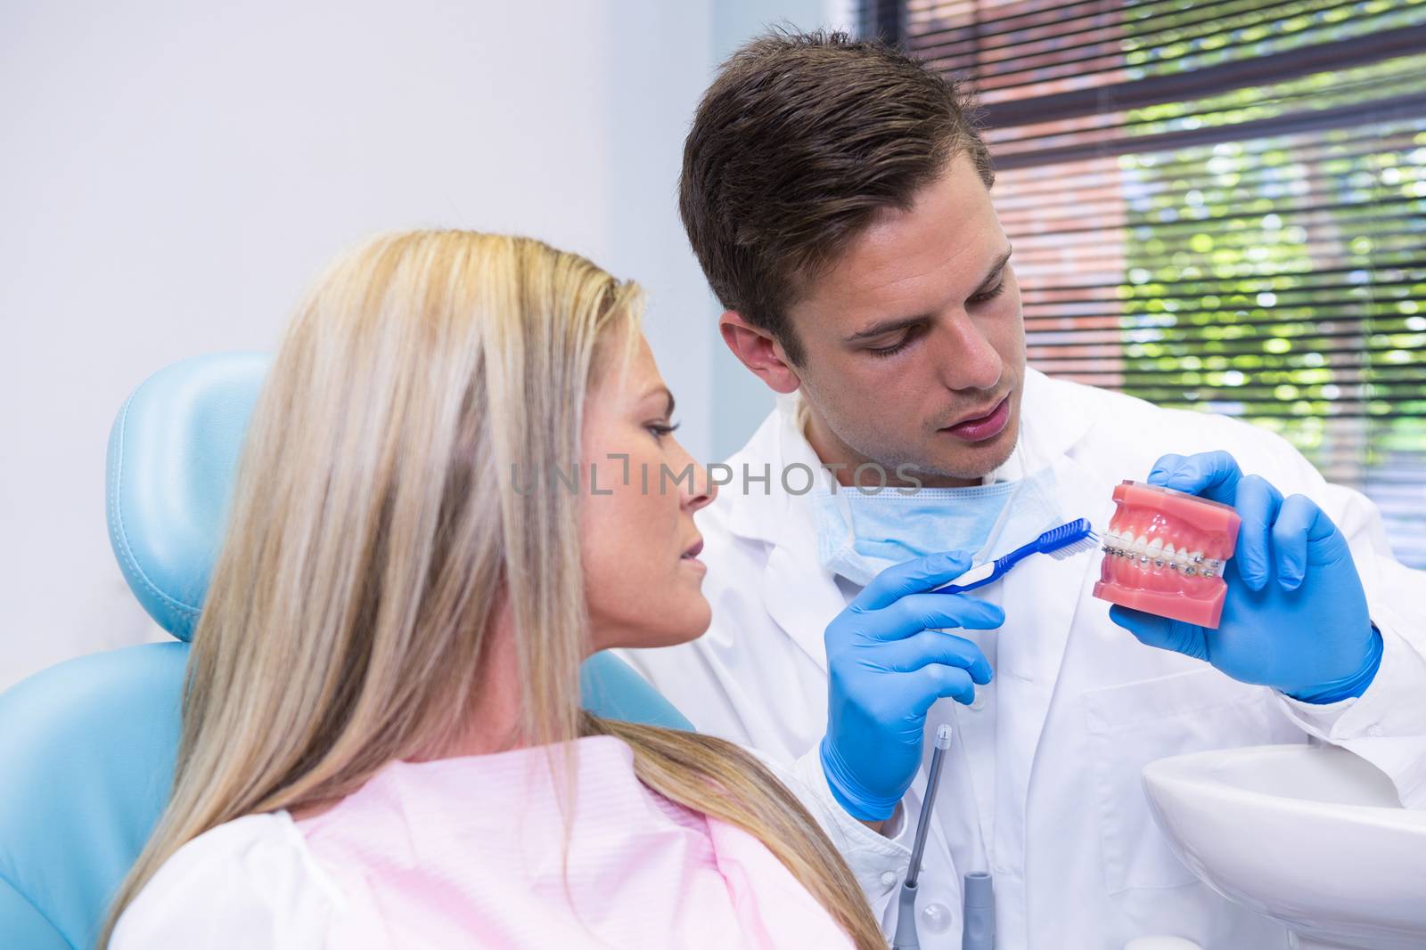
[[[910,209],[960,152],[988,188],[990,154],[953,80],[884,43],[773,31],[704,93],[679,214],[723,306],[800,363],[787,306],[878,209]]]

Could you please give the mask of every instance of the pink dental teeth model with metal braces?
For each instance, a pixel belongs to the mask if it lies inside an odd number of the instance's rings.
[[[1099,600],[1215,630],[1228,584],[1224,570],[1238,543],[1232,506],[1174,489],[1122,481],[1101,534]]]

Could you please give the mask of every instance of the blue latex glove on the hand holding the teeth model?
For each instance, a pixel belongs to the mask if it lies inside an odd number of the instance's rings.
[[[1308,497],[1243,476],[1226,451],[1164,456],[1149,484],[1233,506],[1242,518],[1218,630],[1111,607],[1142,642],[1306,702],[1360,696],[1382,659],[1346,538]]]

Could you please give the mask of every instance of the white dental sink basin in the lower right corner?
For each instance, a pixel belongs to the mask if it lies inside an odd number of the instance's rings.
[[[1288,926],[1302,950],[1426,947],[1426,810],[1333,746],[1263,745],[1151,762],[1154,818],[1208,886]]]

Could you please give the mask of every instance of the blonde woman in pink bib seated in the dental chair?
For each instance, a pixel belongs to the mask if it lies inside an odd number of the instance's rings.
[[[637,312],[583,258],[458,231],[318,282],[100,946],[886,946],[763,765],[579,709],[590,652],[709,624],[714,489],[660,486],[692,459]]]

